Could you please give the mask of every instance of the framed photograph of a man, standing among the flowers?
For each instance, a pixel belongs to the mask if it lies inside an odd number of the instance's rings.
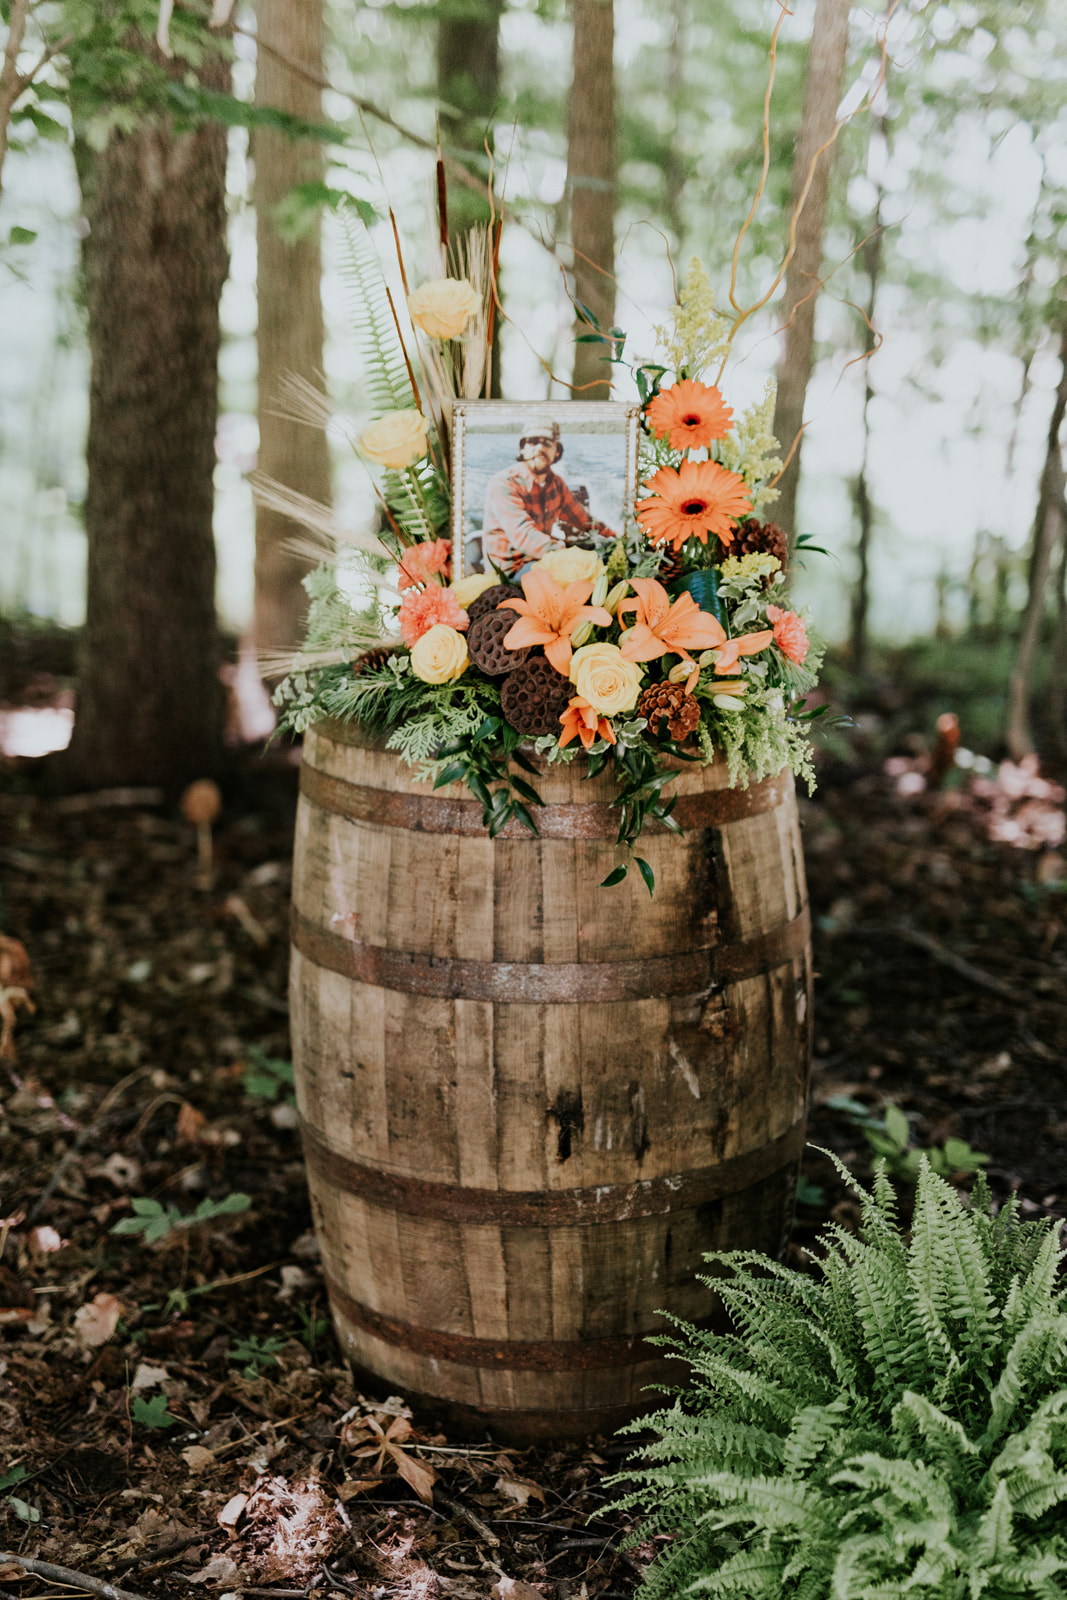
[[[637,403],[461,400],[453,410],[453,573],[517,578],[566,544],[622,534]]]

